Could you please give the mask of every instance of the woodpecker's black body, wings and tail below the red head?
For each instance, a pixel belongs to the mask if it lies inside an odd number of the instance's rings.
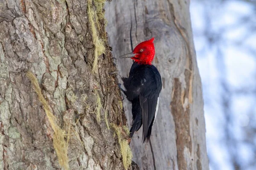
[[[154,65],[134,62],[128,78],[122,78],[124,94],[132,103],[133,123],[130,137],[143,125],[143,143],[148,142],[157,110],[157,102],[162,89],[159,71]]]

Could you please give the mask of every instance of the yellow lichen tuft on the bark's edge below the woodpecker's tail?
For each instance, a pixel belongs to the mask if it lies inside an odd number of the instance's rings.
[[[123,162],[124,168],[125,168],[125,170],[128,170],[128,167],[131,165],[131,159],[132,159],[131,148],[128,144],[128,141],[123,138],[122,127],[119,127],[113,123],[111,123],[111,126],[116,131],[116,136],[118,138],[118,143],[120,145],[120,151],[121,151],[121,155],[122,155],[122,162]]]

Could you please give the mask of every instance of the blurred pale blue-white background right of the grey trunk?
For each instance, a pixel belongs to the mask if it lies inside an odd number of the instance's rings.
[[[211,170],[256,169],[256,1],[191,0]]]

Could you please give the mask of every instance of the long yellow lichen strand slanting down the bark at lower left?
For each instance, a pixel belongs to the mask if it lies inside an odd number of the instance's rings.
[[[61,127],[59,127],[56,123],[56,118],[55,116],[52,114],[51,109],[49,107],[48,102],[44,99],[44,96],[41,92],[41,88],[38,84],[38,80],[35,78],[35,76],[32,74],[31,71],[27,72],[27,77],[29,77],[32,85],[34,86],[34,90],[36,92],[36,94],[38,95],[38,99],[39,101],[42,103],[42,105],[44,106],[44,111],[47,115],[47,118],[50,122],[50,125],[52,127],[52,130],[54,131],[53,134],[53,147],[57,153],[57,157],[58,157],[58,161],[59,164],[61,165],[61,167],[63,167],[65,170],[69,169],[68,166],[68,156],[67,156],[67,142],[64,139],[65,133],[64,131],[61,129]],[[69,140],[69,137],[68,137]]]

